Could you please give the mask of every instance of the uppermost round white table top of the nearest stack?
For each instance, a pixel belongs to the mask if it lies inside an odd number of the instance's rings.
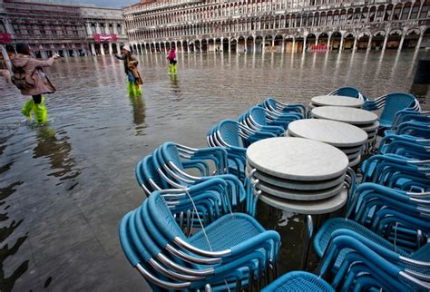
[[[347,155],[336,147],[303,138],[257,141],[247,150],[249,165],[288,180],[329,180],[347,171]]]

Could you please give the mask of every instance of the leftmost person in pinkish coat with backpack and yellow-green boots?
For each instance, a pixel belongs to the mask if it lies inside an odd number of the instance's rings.
[[[16,44],[15,56],[12,62],[12,82],[23,95],[31,95],[33,98],[25,102],[21,112],[31,120],[34,112],[37,123],[46,122],[48,112],[44,106],[44,96],[42,94],[54,93],[55,87],[44,74],[44,67],[52,66],[54,60],[59,57],[54,54],[47,60],[36,60],[33,58],[28,44]]]

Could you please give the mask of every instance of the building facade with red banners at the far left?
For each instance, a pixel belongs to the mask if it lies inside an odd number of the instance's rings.
[[[35,57],[115,54],[127,42],[121,9],[0,0],[0,45],[27,43]]]

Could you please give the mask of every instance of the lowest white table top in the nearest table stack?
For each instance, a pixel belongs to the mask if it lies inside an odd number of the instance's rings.
[[[262,192],[259,200],[276,209],[305,215],[319,215],[333,212],[347,203],[347,190],[325,200],[285,200]]]

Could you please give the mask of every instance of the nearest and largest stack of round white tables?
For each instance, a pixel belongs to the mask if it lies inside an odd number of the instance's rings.
[[[301,214],[324,214],[346,203],[348,164],[336,147],[304,138],[265,139],[247,150],[247,172],[257,181],[260,200]]]

